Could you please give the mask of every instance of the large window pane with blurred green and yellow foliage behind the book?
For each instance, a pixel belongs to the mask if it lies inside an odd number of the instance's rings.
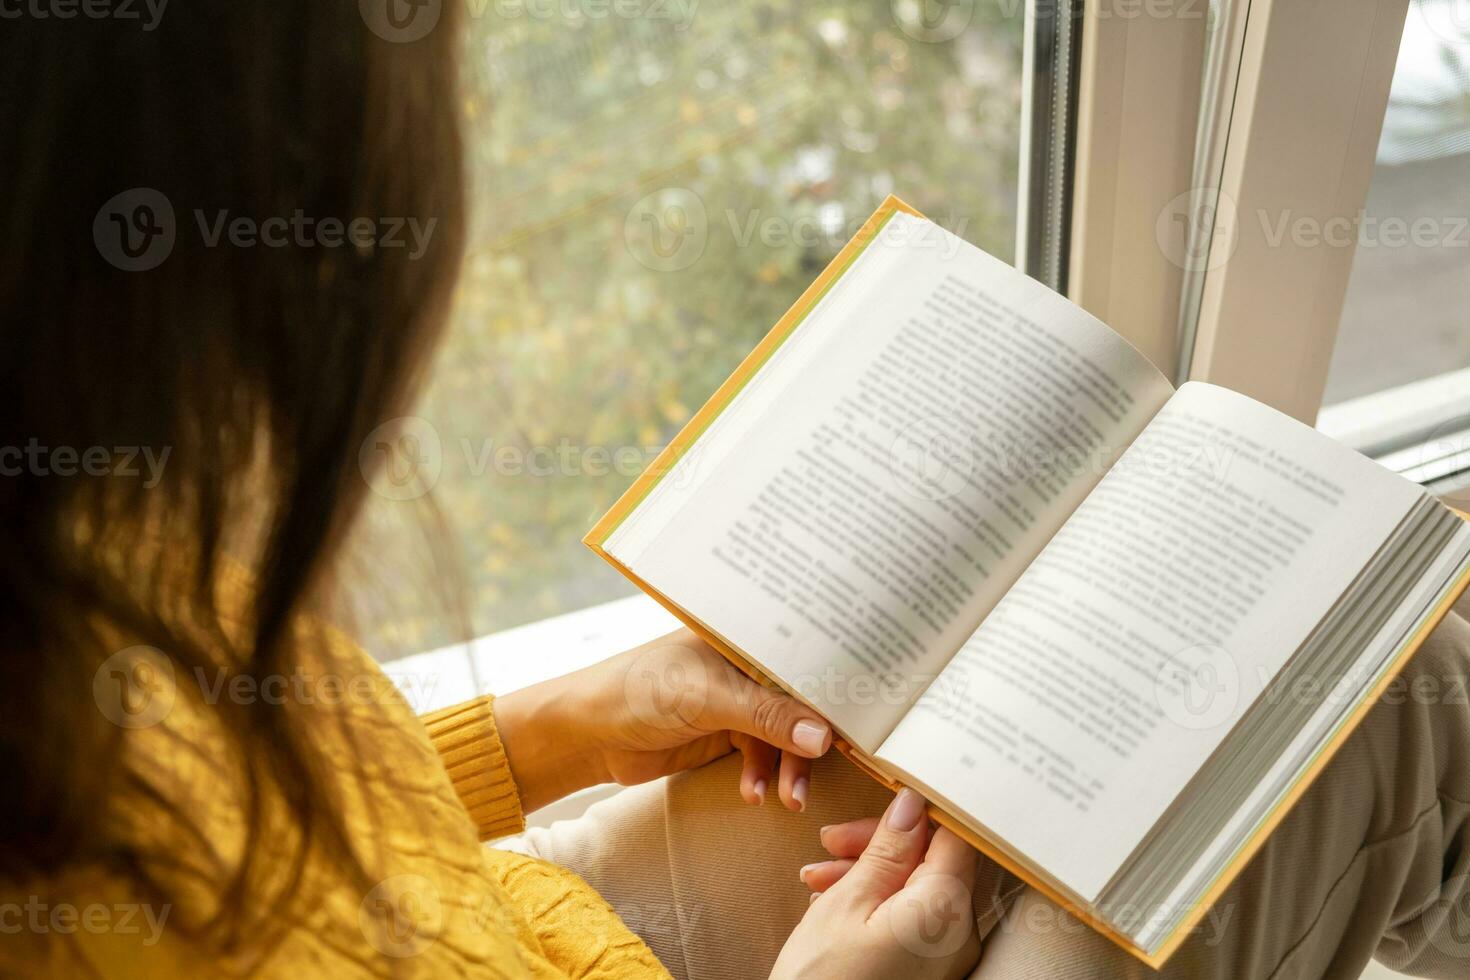
[[[632,591],[582,535],[886,194],[1011,257],[1022,4],[469,9],[473,231],[416,414],[494,632]],[[406,505],[370,511],[394,554]],[[456,639],[395,605],[379,655]]]

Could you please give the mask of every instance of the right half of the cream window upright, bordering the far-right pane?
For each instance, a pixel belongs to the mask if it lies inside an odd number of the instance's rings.
[[[1354,247],[1273,229],[1367,201],[1408,0],[1251,0],[1189,376],[1314,423]]]

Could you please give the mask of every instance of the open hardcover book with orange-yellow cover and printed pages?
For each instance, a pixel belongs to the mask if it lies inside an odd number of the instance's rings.
[[[1470,525],[895,198],[588,544],[1157,967],[1470,577]]]

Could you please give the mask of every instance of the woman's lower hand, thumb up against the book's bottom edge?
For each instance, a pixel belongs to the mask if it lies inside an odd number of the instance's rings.
[[[882,820],[825,827],[822,845],[835,860],[801,870],[811,908],[772,980],[951,980],[975,968],[978,857],[942,827],[931,835],[919,793],[901,790]]]

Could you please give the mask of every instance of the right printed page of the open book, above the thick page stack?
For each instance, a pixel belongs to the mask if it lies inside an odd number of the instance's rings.
[[[878,757],[1094,901],[1420,500],[1186,383]]]

